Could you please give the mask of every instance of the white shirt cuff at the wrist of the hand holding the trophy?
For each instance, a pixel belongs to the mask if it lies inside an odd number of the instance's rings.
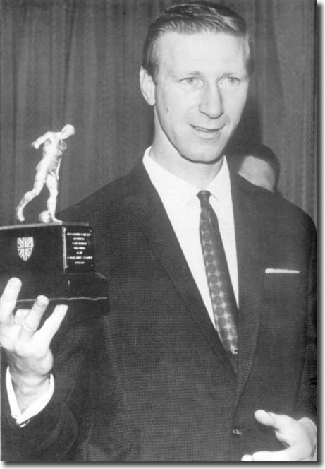
[[[8,401],[11,410],[11,417],[16,420],[18,427],[25,427],[32,417],[35,417],[44,407],[49,403],[54,393],[54,377],[52,374],[49,376],[49,388],[45,391],[42,396],[39,396],[35,402],[30,404],[24,412],[20,411],[16,398],[15,391],[13,391],[13,382],[11,380],[11,374],[9,367],[6,370],[6,388],[8,393]]]

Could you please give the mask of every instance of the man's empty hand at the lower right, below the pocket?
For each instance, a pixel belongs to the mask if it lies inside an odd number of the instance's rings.
[[[317,448],[317,434],[302,420],[294,420],[288,415],[278,415],[265,410],[257,410],[255,418],[259,423],[274,427],[276,438],[286,449],[281,451],[257,451],[245,454],[242,461],[317,461],[314,453]]]

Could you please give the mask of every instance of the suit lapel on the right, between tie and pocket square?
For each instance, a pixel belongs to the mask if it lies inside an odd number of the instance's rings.
[[[236,403],[247,381],[254,359],[262,308],[262,269],[259,259],[259,210],[255,189],[231,174],[235,239],[238,261],[238,387]]]

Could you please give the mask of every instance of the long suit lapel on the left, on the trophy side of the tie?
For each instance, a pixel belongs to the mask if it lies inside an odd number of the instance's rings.
[[[206,338],[225,367],[233,372],[231,362],[211,323],[168,215],[143,165],[137,165],[131,176],[133,195],[127,199],[130,214],[140,225],[140,229],[148,239],[149,246],[164,266],[168,277],[185,303],[190,318],[195,321],[200,333]]]

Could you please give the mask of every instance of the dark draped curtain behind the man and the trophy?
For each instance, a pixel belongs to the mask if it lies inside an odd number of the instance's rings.
[[[58,208],[128,172],[152,133],[138,85],[147,25],[176,1],[1,1],[1,225],[32,188],[41,152],[31,142],[73,124]],[[233,146],[262,141],[281,160],[283,196],[317,215],[315,5],[309,0],[221,0],[247,20],[255,76]],[[47,189],[26,209],[35,222]]]

